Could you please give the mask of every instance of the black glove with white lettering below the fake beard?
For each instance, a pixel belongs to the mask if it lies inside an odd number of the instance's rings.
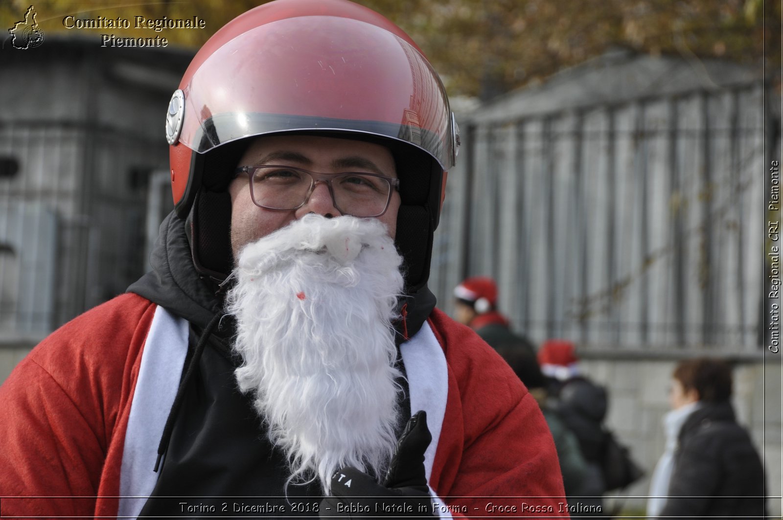
[[[332,476],[332,496],[321,500],[319,516],[433,516],[432,499],[424,471],[424,450],[427,450],[431,440],[427,413],[420,410],[410,418],[399,436],[383,486],[356,468],[342,468]]]

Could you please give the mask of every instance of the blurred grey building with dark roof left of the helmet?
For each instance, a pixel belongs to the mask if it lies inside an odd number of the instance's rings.
[[[3,379],[38,340],[146,270],[147,215],[171,200],[158,193],[165,113],[192,57],[95,38],[0,52]]]

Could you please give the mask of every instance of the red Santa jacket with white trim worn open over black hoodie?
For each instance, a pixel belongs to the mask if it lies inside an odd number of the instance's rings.
[[[187,334],[186,320],[124,294],[34,348],[0,387],[2,514],[138,514]],[[568,516],[547,424],[492,348],[435,309],[400,351],[411,410],[428,412],[442,516]]]

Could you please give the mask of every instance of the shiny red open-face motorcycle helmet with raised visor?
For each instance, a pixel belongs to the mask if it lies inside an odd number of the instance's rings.
[[[171,98],[166,134],[175,211],[193,211],[194,258],[216,278],[233,263],[226,186],[236,161],[247,138],[281,132],[390,148],[402,200],[397,247],[407,286],[423,287],[459,138],[445,89],[417,45],[347,0],[269,2],[204,44]]]

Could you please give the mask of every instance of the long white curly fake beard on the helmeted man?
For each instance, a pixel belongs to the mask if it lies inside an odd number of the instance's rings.
[[[384,475],[398,421],[394,241],[374,218],[305,215],[244,247],[229,291],[242,392],[286,453],[290,482],[353,466]]]

